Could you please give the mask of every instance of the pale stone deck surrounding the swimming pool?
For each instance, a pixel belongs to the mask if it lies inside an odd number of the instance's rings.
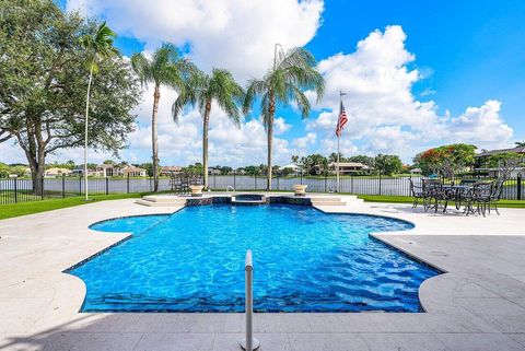
[[[374,236],[446,271],[420,288],[427,313],[256,314],[260,350],[525,350],[525,210],[464,217],[341,199],[319,209],[416,224]],[[128,235],[88,226],[178,209],[114,200],[0,221],[0,350],[240,350],[242,314],[78,312],[85,286],[62,271]]]

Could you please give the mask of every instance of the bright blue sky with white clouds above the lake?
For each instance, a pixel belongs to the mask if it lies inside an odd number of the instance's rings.
[[[59,4],[106,20],[126,56],[168,40],[205,70],[228,68],[243,84],[265,72],[276,42],[308,48],[327,79],[327,94],[307,121],[293,107],[278,110],[279,164],[289,163],[291,154],[335,151],[340,89],[349,93],[345,154],[396,153],[409,162],[442,143],[489,149],[525,139],[524,1],[160,0],[160,10],[124,0]],[[167,115],[173,98],[173,92],[163,93],[161,114]],[[148,91],[136,114],[138,130],[122,159],[147,162]],[[161,118],[161,162],[199,161],[200,117],[188,110],[179,126]],[[220,112],[212,115],[211,163],[262,163],[257,109],[241,130],[232,131],[223,119]]]

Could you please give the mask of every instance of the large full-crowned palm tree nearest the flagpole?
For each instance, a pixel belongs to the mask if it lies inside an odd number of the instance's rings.
[[[315,70],[315,58],[306,49],[295,47],[287,52],[277,51],[273,58],[273,67],[260,80],[248,82],[243,112],[249,113],[255,98],[260,97],[262,122],[268,138],[268,172],[267,189],[271,189],[271,157],[273,143],[273,119],[276,104],[288,105],[295,102],[301,109],[303,118],[310,114],[310,102],[303,91],[314,90],[317,101],[323,97],[325,82],[323,77]]]

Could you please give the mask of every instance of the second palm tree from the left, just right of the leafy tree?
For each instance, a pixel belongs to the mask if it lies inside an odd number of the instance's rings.
[[[182,58],[172,44],[163,44],[148,59],[143,54],[135,54],[131,57],[131,66],[139,77],[142,86],[149,83],[154,84],[153,113],[151,115],[151,144],[153,159],[153,190],[159,190],[159,143],[158,143],[158,114],[159,101],[161,98],[161,85],[175,89],[182,92],[185,80],[194,70],[192,63]]]

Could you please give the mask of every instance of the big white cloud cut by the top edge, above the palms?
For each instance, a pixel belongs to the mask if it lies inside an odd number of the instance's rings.
[[[188,45],[202,68],[228,68],[245,80],[261,75],[273,46],[304,46],[320,24],[322,0],[69,0],[68,10],[101,15],[147,49],[171,42]]]

